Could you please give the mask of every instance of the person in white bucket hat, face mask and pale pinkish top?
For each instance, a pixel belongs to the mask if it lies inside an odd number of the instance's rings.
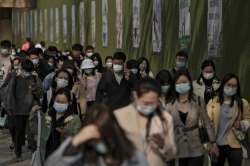
[[[96,101],[96,89],[101,79],[100,73],[95,73],[95,65],[91,59],[85,59],[82,62],[82,77],[80,79],[80,87],[84,90],[84,98],[87,108],[90,108]]]

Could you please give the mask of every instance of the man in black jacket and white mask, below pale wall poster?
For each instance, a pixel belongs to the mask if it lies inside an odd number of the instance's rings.
[[[104,102],[113,110],[130,103],[131,85],[125,78],[125,61],[126,55],[123,52],[116,52],[113,56],[113,70],[102,75],[97,87],[97,101]]]

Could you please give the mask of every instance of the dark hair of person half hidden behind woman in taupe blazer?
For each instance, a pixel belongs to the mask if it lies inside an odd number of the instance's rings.
[[[167,83],[170,86],[170,89],[168,93],[165,95],[167,102],[172,99],[173,96],[173,78],[171,73],[168,70],[161,70],[159,73],[156,75],[156,81],[160,83],[160,85],[164,85]]]

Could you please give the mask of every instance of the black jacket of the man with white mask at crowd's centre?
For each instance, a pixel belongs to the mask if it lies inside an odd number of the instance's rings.
[[[122,108],[130,103],[131,84],[124,77],[119,84],[112,71],[102,75],[96,91],[97,102],[107,104],[112,110]]]

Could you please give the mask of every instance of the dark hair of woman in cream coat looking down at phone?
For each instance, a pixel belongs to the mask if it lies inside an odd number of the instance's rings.
[[[137,96],[139,98],[148,92],[155,92],[158,96],[160,96],[161,95],[161,86],[156,80],[147,77],[147,78],[143,78],[140,81],[138,81],[138,83],[135,86],[135,91],[136,91]],[[163,117],[162,112],[163,112],[162,108],[160,106],[158,106],[158,108],[155,110],[155,114],[151,114],[148,117],[148,121],[146,124],[146,139],[148,139],[148,137],[149,137],[150,126],[152,123],[152,119],[155,115],[160,118],[162,125],[163,125],[163,128],[165,125],[167,125],[167,121]]]

